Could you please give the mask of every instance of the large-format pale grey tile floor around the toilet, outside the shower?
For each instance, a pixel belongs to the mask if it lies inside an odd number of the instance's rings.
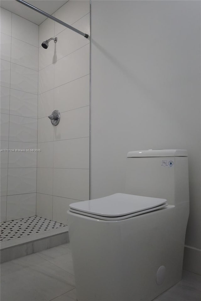
[[[183,271],[154,301],[200,300],[201,276]],[[69,243],[2,263],[1,301],[76,301]]]

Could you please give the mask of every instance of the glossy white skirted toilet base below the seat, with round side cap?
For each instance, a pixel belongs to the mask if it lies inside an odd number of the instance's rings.
[[[188,204],[120,221],[68,215],[79,301],[151,301],[181,280]]]

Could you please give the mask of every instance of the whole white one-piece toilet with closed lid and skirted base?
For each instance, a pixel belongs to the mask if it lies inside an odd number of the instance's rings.
[[[69,206],[78,301],[150,301],[181,280],[187,151],[129,152],[126,193]]]

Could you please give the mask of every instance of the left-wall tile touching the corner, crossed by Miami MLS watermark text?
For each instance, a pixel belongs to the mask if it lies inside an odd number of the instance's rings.
[[[37,149],[36,143],[9,142],[9,149],[25,150],[13,151],[8,154],[8,168],[37,167],[37,152],[26,151]]]

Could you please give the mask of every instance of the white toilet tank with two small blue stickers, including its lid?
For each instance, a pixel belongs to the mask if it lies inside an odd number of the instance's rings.
[[[126,193],[165,198],[169,205],[189,202],[187,150],[129,151]]]

